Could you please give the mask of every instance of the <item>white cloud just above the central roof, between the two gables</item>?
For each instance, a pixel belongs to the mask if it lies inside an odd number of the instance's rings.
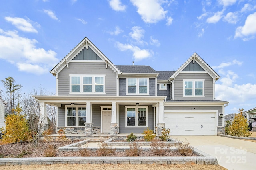
[[[120,51],[132,51],[135,61],[140,61],[142,59],[146,59],[152,56],[152,51],[149,51],[148,49],[140,49],[139,47],[134,45],[122,44],[120,42],[117,42],[116,46]]]

